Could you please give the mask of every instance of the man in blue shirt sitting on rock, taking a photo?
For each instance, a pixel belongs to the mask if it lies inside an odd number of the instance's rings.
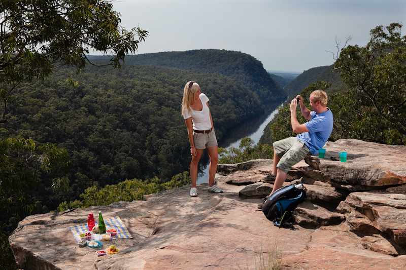
[[[297,121],[297,104],[300,105],[303,117],[309,122],[300,125]],[[301,134],[274,142],[274,168],[272,173],[262,180],[266,183],[275,183],[270,195],[282,187],[286,174],[293,165],[303,160],[309,153],[318,155],[319,148],[323,148],[330,137],[333,129],[333,115],[327,107],[327,94],[322,90],[314,91],[310,94],[309,105],[313,111],[304,106],[303,98],[300,95],[290,103],[293,132]]]

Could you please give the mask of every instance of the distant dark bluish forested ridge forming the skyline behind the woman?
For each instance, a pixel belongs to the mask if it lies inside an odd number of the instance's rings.
[[[94,59],[107,59],[96,57]],[[255,92],[263,103],[285,100],[284,90],[251,55],[226,50],[192,50],[127,56],[125,64],[154,65],[223,74]]]

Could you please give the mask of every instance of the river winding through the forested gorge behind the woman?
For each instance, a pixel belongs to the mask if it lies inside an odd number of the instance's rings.
[[[283,105],[283,104],[282,104]],[[250,137],[257,143],[263,134],[263,130],[266,125],[272,121],[275,115],[278,113],[277,105],[272,105],[268,108],[267,111],[262,115],[262,117],[258,117],[257,119],[251,119],[246,121],[246,123],[240,125],[238,128],[231,130],[229,132],[229,136],[219,144],[219,147],[223,148],[230,148],[235,147],[238,148],[241,142],[241,139],[244,137]],[[209,181],[209,158],[208,155],[202,157],[199,162],[199,173],[197,174],[197,184],[206,183]]]

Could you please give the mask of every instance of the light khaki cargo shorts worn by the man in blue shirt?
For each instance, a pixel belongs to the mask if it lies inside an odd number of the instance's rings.
[[[310,153],[306,144],[303,141],[299,141],[297,137],[290,137],[274,142],[274,151],[281,158],[277,167],[285,173],[288,173],[293,165],[299,163]]]

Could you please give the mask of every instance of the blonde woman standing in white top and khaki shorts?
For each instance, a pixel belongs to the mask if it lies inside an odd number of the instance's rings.
[[[197,165],[203,149],[207,150],[210,157],[208,191],[223,192],[223,190],[214,185],[214,176],[216,175],[219,156],[208,101],[209,98],[200,92],[200,87],[197,83],[190,81],[185,85],[182,100],[182,116],[185,119],[190,142],[190,153],[192,155],[192,162],[190,163],[190,177],[192,178],[190,196],[192,197],[197,196]]]

